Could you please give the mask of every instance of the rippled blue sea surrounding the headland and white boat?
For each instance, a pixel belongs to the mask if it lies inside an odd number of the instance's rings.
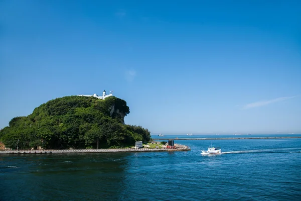
[[[280,136],[301,135],[152,137]],[[0,155],[0,200],[301,200],[300,138],[175,143],[191,151]]]

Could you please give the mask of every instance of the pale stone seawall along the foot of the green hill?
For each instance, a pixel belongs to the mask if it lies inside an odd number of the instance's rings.
[[[112,153],[112,152],[154,152],[154,151],[190,151],[188,146],[175,149],[167,148],[125,148],[125,149],[54,149],[54,150],[9,150],[0,151],[0,154],[64,154],[64,153]]]

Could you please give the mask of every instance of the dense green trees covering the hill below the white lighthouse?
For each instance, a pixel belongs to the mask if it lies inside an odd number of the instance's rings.
[[[107,148],[149,141],[147,129],[124,125],[127,114],[126,102],[114,96],[65,96],[42,104],[27,117],[13,118],[0,131],[0,141],[13,149],[17,144],[19,149],[95,148],[98,140],[99,148]]]

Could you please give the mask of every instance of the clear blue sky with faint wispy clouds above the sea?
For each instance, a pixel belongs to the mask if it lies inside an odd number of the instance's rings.
[[[152,134],[301,133],[301,2],[0,0],[0,128],[104,89]]]

